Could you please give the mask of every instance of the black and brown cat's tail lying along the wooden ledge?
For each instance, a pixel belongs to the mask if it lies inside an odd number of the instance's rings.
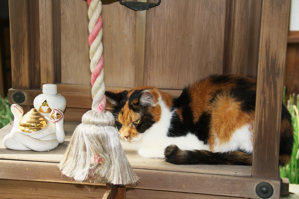
[[[170,145],[164,155],[166,161],[172,164],[252,165],[252,155],[241,151],[213,153],[207,150],[181,150],[176,145]]]

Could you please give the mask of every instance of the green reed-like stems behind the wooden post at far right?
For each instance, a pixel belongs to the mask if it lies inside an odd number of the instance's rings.
[[[284,95],[283,95],[283,102],[285,103],[285,91],[286,87],[284,88]],[[298,107],[299,107],[299,94],[297,95],[297,105],[294,104],[295,99],[295,93],[293,95],[290,95],[290,99],[287,102],[287,107],[292,114],[292,123],[294,127],[294,146],[293,146],[293,152],[292,152],[292,158],[289,164],[287,164],[284,167],[280,168],[280,177],[282,178],[289,178],[289,181],[291,184],[298,184],[298,178],[299,178],[299,140],[298,140],[298,124],[299,124],[299,113],[298,113]]]

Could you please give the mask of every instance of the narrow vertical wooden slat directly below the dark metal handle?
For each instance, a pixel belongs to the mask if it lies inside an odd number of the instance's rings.
[[[146,2],[146,0],[141,0],[140,2]],[[146,12],[146,10],[143,10],[136,13],[135,87],[144,84]]]

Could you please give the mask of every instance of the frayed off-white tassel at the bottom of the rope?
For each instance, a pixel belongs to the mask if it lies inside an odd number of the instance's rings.
[[[62,174],[76,181],[126,185],[139,179],[127,160],[112,113],[86,112],[58,164]]]

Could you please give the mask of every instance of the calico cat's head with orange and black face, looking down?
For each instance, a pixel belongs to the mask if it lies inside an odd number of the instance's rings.
[[[105,92],[114,110],[115,125],[122,139],[138,141],[154,123],[160,120],[160,94],[154,87],[141,86],[133,90]]]

